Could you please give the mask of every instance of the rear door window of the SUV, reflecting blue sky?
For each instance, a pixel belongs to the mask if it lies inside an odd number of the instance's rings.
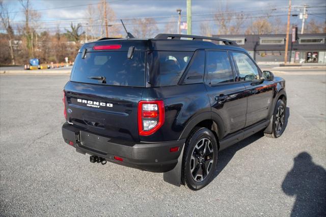
[[[225,51],[207,51],[207,81],[209,84],[233,82],[233,73],[228,53]]]

